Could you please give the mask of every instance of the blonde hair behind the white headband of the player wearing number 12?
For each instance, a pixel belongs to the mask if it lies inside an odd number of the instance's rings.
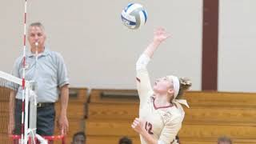
[[[192,86],[192,82],[190,81],[190,78],[178,78],[179,79],[179,90],[178,90],[178,95],[177,99],[181,98],[182,95],[186,90],[190,89],[190,86]]]

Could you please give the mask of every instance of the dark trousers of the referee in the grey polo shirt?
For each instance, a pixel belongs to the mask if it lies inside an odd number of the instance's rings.
[[[22,100],[15,100],[15,129],[14,134],[22,131]],[[24,115],[25,116],[25,115]],[[37,111],[37,134],[41,136],[54,135],[55,109],[54,105],[38,107]]]

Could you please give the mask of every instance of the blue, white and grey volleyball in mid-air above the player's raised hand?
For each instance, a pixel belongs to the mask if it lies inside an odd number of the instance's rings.
[[[129,29],[136,30],[145,25],[147,14],[141,4],[129,3],[128,6],[122,10],[121,18],[125,26]]]

